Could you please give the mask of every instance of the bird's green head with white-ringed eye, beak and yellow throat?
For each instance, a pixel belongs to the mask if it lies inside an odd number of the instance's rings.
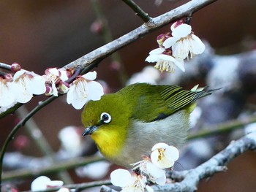
[[[91,135],[103,155],[111,158],[118,154],[127,138],[131,108],[117,93],[89,101],[82,113],[85,126],[83,136]]]

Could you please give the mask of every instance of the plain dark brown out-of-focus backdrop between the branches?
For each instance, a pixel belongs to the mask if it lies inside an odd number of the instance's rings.
[[[156,17],[186,1],[163,1],[159,7],[152,0],[135,2],[151,17]],[[100,3],[114,39],[143,24],[122,1]],[[195,34],[206,39],[217,54],[241,53],[255,46],[255,8],[254,0],[217,1],[196,12],[191,25]],[[43,74],[48,67],[69,64],[105,44],[99,34],[90,30],[96,20],[90,1],[5,0],[0,1],[0,15],[0,62],[18,62],[23,69],[37,74]],[[160,28],[118,51],[129,76],[148,65],[144,60],[148,52],[157,47],[155,38],[169,31],[169,27]],[[245,45],[245,42],[251,42],[250,46]],[[95,70],[98,73],[97,80],[108,82],[112,91],[121,88],[118,74],[111,68],[110,58],[105,58]],[[26,107],[31,110],[43,99],[45,96],[37,96]],[[80,112],[66,104],[63,96],[34,115],[34,120],[53,150],[58,150],[59,140],[56,135],[64,126],[80,126]],[[15,115],[1,119],[1,145],[16,122]],[[24,134],[22,128],[18,134]],[[15,150],[12,143],[8,150]],[[26,155],[41,155],[37,151],[32,142],[23,149]],[[201,182],[199,191],[255,191],[255,153],[241,155],[228,168],[227,172]]]

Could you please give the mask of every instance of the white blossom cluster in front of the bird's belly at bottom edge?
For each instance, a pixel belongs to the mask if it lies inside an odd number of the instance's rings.
[[[125,169],[116,169],[110,174],[111,183],[122,188],[122,191],[153,191],[146,185],[148,182],[165,185],[165,169],[173,167],[179,157],[176,147],[165,143],[157,143],[151,149],[151,155],[143,156],[143,160],[132,166],[140,170],[140,174],[132,174]]]

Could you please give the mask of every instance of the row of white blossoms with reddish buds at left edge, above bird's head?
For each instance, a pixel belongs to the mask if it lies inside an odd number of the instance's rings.
[[[78,76],[70,85],[67,83],[72,70],[49,68],[40,76],[34,72],[20,69],[19,64],[12,64],[14,74],[0,76],[0,111],[4,112],[16,103],[27,103],[34,95],[58,96],[67,93],[67,103],[80,110],[89,100],[99,100],[103,88],[94,80],[96,72]]]

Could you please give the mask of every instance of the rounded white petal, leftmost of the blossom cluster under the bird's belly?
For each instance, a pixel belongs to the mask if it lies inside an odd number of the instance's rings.
[[[132,175],[125,169],[116,169],[110,174],[111,183],[118,187],[125,187],[132,180]]]

